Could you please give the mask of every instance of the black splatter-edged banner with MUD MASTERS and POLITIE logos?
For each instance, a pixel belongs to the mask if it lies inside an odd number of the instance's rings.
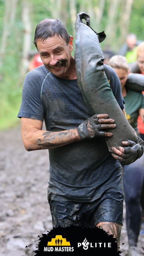
[[[39,236],[35,256],[74,254],[82,255],[121,255],[117,251],[116,238],[103,229],[70,226],[53,228],[47,234]]]

